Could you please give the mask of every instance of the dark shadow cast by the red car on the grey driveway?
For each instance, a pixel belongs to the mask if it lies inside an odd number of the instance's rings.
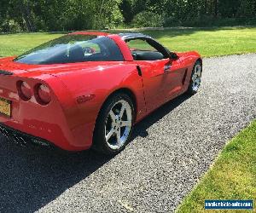
[[[181,95],[151,113],[136,125],[133,138],[146,136],[150,125],[188,98]],[[93,151],[66,153],[19,147],[0,135],[0,212],[34,212],[110,159]]]

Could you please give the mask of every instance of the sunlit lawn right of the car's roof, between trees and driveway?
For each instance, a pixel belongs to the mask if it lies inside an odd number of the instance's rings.
[[[169,49],[197,50],[204,57],[256,52],[256,27],[192,28],[147,32]]]

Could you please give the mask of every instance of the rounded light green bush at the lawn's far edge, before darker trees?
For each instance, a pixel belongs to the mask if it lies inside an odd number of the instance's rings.
[[[143,11],[137,14],[132,20],[132,26],[135,27],[158,27],[163,26],[163,17],[150,11]]]

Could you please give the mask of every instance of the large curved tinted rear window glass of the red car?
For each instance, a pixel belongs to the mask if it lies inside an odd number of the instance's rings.
[[[38,65],[120,60],[124,57],[111,38],[76,34],[56,38],[15,59]]]

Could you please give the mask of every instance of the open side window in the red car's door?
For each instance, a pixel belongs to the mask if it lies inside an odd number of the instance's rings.
[[[152,45],[143,39],[132,39],[126,43],[131,50],[133,60],[164,59],[164,55],[162,55],[157,49],[155,49]]]

